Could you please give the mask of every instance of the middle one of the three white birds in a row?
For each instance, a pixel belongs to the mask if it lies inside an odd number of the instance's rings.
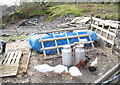
[[[57,66],[53,67],[53,72],[58,73],[59,75],[62,76],[63,72],[68,73],[68,68],[64,65],[57,65]]]

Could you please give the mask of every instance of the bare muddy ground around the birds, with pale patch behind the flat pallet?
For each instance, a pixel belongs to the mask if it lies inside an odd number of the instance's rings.
[[[29,53],[29,48],[30,46],[27,40],[19,40],[17,42],[7,43],[6,49],[7,51],[22,50],[22,57],[25,57],[28,56],[27,54]],[[115,63],[118,62],[118,57],[116,55],[112,54],[109,50],[102,49],[101,47],[98,47],[96,51],[87,52],[86,55],[91,56],[92,60],[95,57],[98,57],[98,70],[96,73],[90,73],[87,68],[84,67],[79,68],[83,76],[75,78],[73,80],[70,80],[70,76],[68,74],[60,76],[55,73],[49,73],[49,77],[45,77],[42,73],[38,72],[32,67],[44,63],[55,66],[58,64],[62,64],[62,59],[56,58],[50,60],[43,60],[43,54],[33,52],[32,56],[30,57],[27,73],[21,73],[15,77],[2,78],[2,83],[89,83],[94,82],[106,71],[108,71],[112,66],[114,66]]]

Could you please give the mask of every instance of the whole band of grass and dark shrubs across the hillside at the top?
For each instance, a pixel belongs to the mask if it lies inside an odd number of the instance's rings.
[[[28,19],[48,15],[48,20],[62,17],[66,14],[90,16],[102,19],[120,20],[118,16],[118,3],[111,4],[58,4],[58,3],[22,3],[16,12],[3,17],[3,23],[14,24],[18,19]]]

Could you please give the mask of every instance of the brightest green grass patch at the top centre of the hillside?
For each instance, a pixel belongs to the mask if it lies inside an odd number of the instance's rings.
[[[48,12],[49,20],[55,17],[62,17],[66,14],[74,14],[76,17],[82,16],[82,13],[90,12],[90,9],[79,8],[78,5],[75,4],[64,4],[54,7],[49,7]]]

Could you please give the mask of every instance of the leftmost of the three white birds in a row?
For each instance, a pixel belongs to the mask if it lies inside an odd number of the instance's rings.
[[[34,66],[33,68],[41,73],[44,73],[44,76],[46,76],[46,77],[49,76],[48,72],[53,71],[53,67],[48,64],[37,65],[37,66]]]

